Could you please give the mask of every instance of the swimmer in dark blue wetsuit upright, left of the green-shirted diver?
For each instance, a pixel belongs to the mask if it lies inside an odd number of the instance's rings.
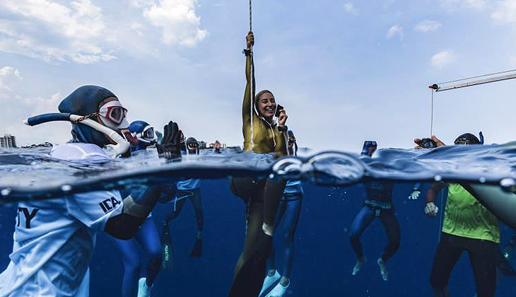
[[[365,141],[362,149],[362,155],[373,156],[376,151],[377,144],[375,141]],[[355,267],[353,267],[353,275],[358,274],[360,268],[365,263],[366,258],[363,255],[362,245],[360,243],[360,235],[365,228],[372,223],[375,218],[379,217],[382,225],[387,231],[389,242],[385,247],[382,257],[377,260],[380,266],[380,273],[384,281],[388,279],[386,262],[389,260],[399,248],[400,233],[399,223],[394,214],[394,204],[392,204],[392,187],[393,182],[372,180],[364,182],[367,198],[364,200],[364,206],[356,215],[351,224],[351,233],[349,240],[351,246],[358,257]]]

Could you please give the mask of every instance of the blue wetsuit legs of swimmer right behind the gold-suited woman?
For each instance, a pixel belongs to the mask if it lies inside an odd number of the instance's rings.
[[[278,212],[276,213],[276,221],[274,228],[283,219],[285,224],[285,233],[283,240],[285,250],[283,256],[283,274],[282,276],[290,279],[292,265],[294,262],[294,235],[298,227],[299,215],[301,214],[301,201],[303,198],[303,185],[300,180],[288,180],[283,192],[283,197],[279,203]],[[276,269],[274,262],[274,250],[267,260],[267,270]]]

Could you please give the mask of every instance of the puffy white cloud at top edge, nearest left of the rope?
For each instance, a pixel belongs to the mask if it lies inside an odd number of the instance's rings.
[[[143,9],[148,21],[163,29],[162,41],[166,45],[192,47],[204,40],[207,30],[199,28],[201,18],[195,13],[197,0],[160,0]]]

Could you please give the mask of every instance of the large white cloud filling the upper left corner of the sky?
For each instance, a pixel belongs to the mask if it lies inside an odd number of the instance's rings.
[[[49,0],[4,0],[0,21],[0,50],[47,62],[90,64],[114,59],[102,50],[105,33],[102,12],[90,0],[68,6]]]

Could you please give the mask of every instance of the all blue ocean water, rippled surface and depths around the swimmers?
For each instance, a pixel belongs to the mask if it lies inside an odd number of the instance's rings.
[[[353,153],[305,153],[280,162],[245,154],[193,156],[164,163],[141,155],[110,164],[76,164],[45,156],[45,149],[0,151],[0,269],[8,264],[15,225],[16,199],[40,199],[85,189],[148,185],[178,176],[198,176],[204,211],[203,255],[187,257],[197,235],[197,223],[187,202],[170,223],[175,269],[161,272],[152,296],[227,296],[233,268],[245,236],[245,205],[228,186],[228,175],[276,175],[303,178],[305,196],[295,235],[291,286],[285,296],[432,296],[428,281],[440,234],[441,216],[424,212],[424,194],[433,180],[511,184],[516,179],[516,146],[449,146],[430,150],[384,149],[375,158]],[[387,243],[376,220],[363,233],[368,262],[351,276],[356,256],[349,244],[354,216],[363,206],[365,179],[395,180],[393,202],[401,228],[401,245],[388,262],[383,281],[376,264]],[[423,181],[418,200],[409,200],[414,180]],[[509,182],[508,182],[509,181]],[[66,187],[64,187],[66,185]],[[7,203],[11,202],[11,203]],[[438,202],[440,206],[440,202]],[[158,204],[153,216],[161,222],[172,204]],[[444,209],[440,207],[440,209]],[[516,213],[516,210],[515,210]],[[442,214],[442,212],[441,212]],[[158,231],[161,224],[158,223]],[[500,224],[502,244],[513,231]],[[281,261],[282,226],[275,235],[276,262]],[[144,257],[142,255],[142,257]],[[514,260],[513,265],[516,265]],[[281,272],[281,265],[279,267]],[[98,234],[90,264],[90,296],[120,296],[122,261],[107,235]],[[142,269],[144,271],[144,269]],[[473,273],[464,253],[450,278],[452,296],[475,294]],[[496,296],[515,296],[516,278],[505,277]]]

